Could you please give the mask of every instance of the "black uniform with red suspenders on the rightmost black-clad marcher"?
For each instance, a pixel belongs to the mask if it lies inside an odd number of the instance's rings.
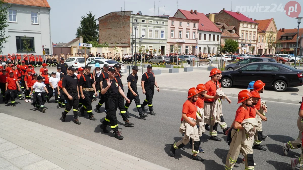
[[[145,72],[145,74],[142,75],[142,81],[144,82],[144,89],[145,89],[145,96],[146,99],[142,103],[141,107],[144,108],[148,104],[149,111],[151,112],[152,109],[152,98],[154,96],[154,90],[155,90],[155,74],[151,73],[148,74]]]

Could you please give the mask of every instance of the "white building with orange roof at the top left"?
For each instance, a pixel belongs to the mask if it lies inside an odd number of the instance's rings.
[[[9,26],[5,34],[9,36],[4,44],[3,54],[26,54],[23,39],[26,36],[32,51],[29,54],[42,55],[42,45],[46,54],[52,54],[50,30],[50,6],[46,0],[3,0],[11,8],[8,9]],[[6,6],[6,5],[4,5]]]

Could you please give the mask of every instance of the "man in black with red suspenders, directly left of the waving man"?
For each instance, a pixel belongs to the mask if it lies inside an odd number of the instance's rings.
[[[85,111],[88,113],[89,119],[97,120],[92,113],[92,99],[93,95],[97,96],[95,81],[92,77],[91,66],[84,66],[84,74],[79,78],[79,91],[81,93],[81,98],[83,99],[83,107],[80,109],[81,116],[85,116]]]

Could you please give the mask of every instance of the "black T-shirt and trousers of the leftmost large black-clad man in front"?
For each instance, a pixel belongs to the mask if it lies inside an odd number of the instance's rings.
[[[68,96],[64,94],[65,99],[67,100],[66,108],[64,112],[62,113],[62,116],[66,116],[66,114],[72,109],[74,111],[74,118],[78,119],[78,104],[79,104],[79,98],[78,98],[78,80],[77,76],[73,74],[72,76],[67,75],[62,80],[62,87],[65,87],[66,91],[69,95],[73,97],[72,100],[68,99]]]

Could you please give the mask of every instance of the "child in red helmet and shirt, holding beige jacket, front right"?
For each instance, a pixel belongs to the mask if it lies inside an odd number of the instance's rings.
[[[248,90],[242,90],[238,94],[238,103],[241,103],[241,106],[239,106],[236,111],[233,129],[230,134],[228,134],[228,136],[231,137],[231,141],[228,143],[230,149],[226,157],[225,170],[230,170],[234,167],[240,151],[244,155],[245,170],[254,169],[254,152],[251,145],[248,144],[244,128],[244,126],[250,123],[247,119],[249,119],[252,97],[253,95]],[[253,127],[254,126],[252,126],[252,129]]]

